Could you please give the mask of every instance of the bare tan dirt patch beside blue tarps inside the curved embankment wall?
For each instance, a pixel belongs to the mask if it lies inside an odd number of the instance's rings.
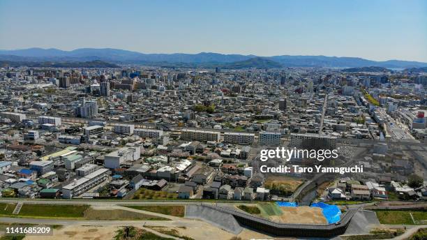
[[[279,223],[327,224],[322,209],[317,207],[280,207],[280,210],[282,215],[269,218]]]

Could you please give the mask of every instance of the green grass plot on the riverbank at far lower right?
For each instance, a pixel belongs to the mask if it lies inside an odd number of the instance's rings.
[[[387,211],[387,210],[378,210],[377,218],[382,224],[407,224],[414,225],[419,224],[420,221],[427,220],[427,211]],[[411,215],[414,217],[412,221]]]

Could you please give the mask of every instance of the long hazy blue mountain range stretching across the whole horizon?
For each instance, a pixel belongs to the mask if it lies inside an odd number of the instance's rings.
[[[0,50],[0,60],[5,61],[93,61],[102,60],[121,64],[147,64],[156,66],[218,66],[223,63],[246,61],[259,56],[241,54],[218,54],[200,52],[198,54],[143,54],[112,48],[80,48],[63,51],[54,48],[29,48],[26,50]],[[427,63],[417,61],[371,61],[357,57],[326,57],[326,56],[273,56],[262,57],[280,63],[285,67],[317,67],[317,68],[359,68],[378,66],[383,68],[422,68]],[[178,64],[179,63],[179,64]]]

